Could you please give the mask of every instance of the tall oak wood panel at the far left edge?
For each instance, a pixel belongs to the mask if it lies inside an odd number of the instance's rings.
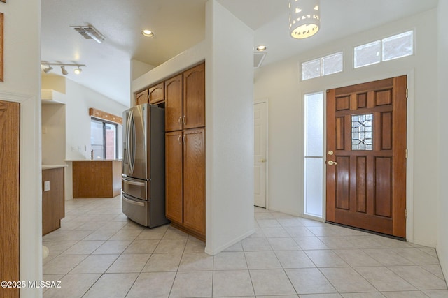
[[[0,101],[0,276],[19,277],[20,105]],[[19,288],[1,288],[1,297],[19,297]]]

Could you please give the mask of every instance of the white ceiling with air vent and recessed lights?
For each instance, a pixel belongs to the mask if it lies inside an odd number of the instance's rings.
[[[217,0],[268,47],[263,65],[437,7],[437,0],[321,0],[321,29],[311,38],[288,35],[288,0]],[[42,0],[41,59],[86,64],[70,80],[129,105],[130,60],[158,66],[204,40],[207,0]],[[85,40],[70,26],[91,24],[106,40]],[[142,29],[155,32],[153,38]],[[61,75],[55,67],[53,75]]]

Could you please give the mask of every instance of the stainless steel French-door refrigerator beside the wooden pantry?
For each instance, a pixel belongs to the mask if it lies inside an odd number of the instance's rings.
[[[165,218],[165,109],[137,105],[123,112],[123,213],[149,228]]]

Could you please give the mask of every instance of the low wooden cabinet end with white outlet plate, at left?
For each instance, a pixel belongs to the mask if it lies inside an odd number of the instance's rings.
[[[61,228],[64,202],[64,167],[42,170],[42,235]]]

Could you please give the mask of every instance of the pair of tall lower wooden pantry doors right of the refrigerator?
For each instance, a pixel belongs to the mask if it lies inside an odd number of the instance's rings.
[[[205,240],[205,129],[166,133],[165,148],[166,216]]]

